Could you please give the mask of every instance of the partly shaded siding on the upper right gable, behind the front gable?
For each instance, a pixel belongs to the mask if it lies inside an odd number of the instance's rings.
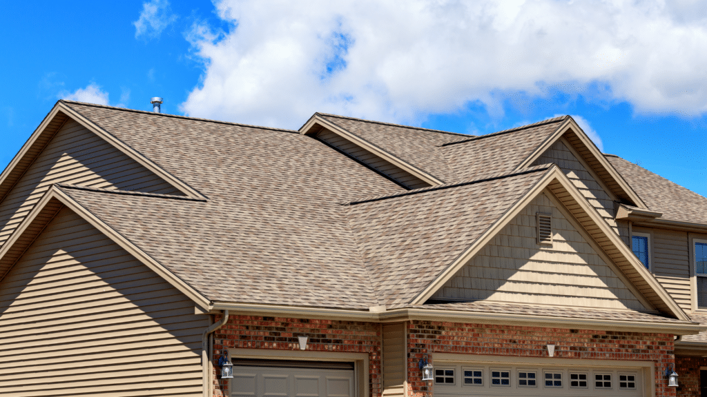
[[[572,184],[582,192],[582,195],[592,204],[592,207],[602,215],[602,218],[612,226],[614,231],[619,233],[619,226],[614,220],[614,198],[612,194],[604,190],[604,186],[597,182],[592,172],[587,170],[583,163],[578,160],[572,150],[570,150],[563,139],[553,143],[550,148],[543,153],[533,165],[554,163],[567,177]]]

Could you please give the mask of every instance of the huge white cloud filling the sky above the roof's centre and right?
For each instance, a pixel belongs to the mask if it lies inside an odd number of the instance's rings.
[[[187,114],[293,128],[313,112],[419,122],[551,90],[637,112],[707,112],[700,1],[222,0],[197,25]],[[598,87],[598,88],[597,88]],[[597,141],[600,142],[597,136]],[[595,142],[597,142],[595,141]]]

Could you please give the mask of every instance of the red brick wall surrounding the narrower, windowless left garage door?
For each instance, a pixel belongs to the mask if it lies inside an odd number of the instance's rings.
[[[215,321],[220,319],[216,316]],[[218,376],[218,357],[228,349],[299,350],[297,336],[302,333],[309,336],[307,350],[367,352],[370,396],[380,396],[380,324],[265,316],[230,316],[214,332],[214,396],[224,396],[228,391],[228,379]]]

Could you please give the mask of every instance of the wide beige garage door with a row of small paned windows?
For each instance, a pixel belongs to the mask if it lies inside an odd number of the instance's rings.
[[[640,397],[643,389],[643,370],[635,367],[435,364],[435,397]]]

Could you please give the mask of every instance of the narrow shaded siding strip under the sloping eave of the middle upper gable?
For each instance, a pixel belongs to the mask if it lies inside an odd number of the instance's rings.
[[[407,186],[410,189],[419,189],[421,187],[430,186],[430,184],[422,179],[419,179],[413,174],[397,167],[397,165],[380,158],[378,155],[370,153],[368,150],[361,148],[361,146],[356,145],[346,138],[338,134],[334,134],[332,131],[322,129],[322,131],[317,134],[317,138],[320,138],[322,141],[329,143],[329,145],[334,146],[351,157],[365,163],[369,167],[375,168],[375,170],[386,174],[388,177],[395,179],[399,184]]]

